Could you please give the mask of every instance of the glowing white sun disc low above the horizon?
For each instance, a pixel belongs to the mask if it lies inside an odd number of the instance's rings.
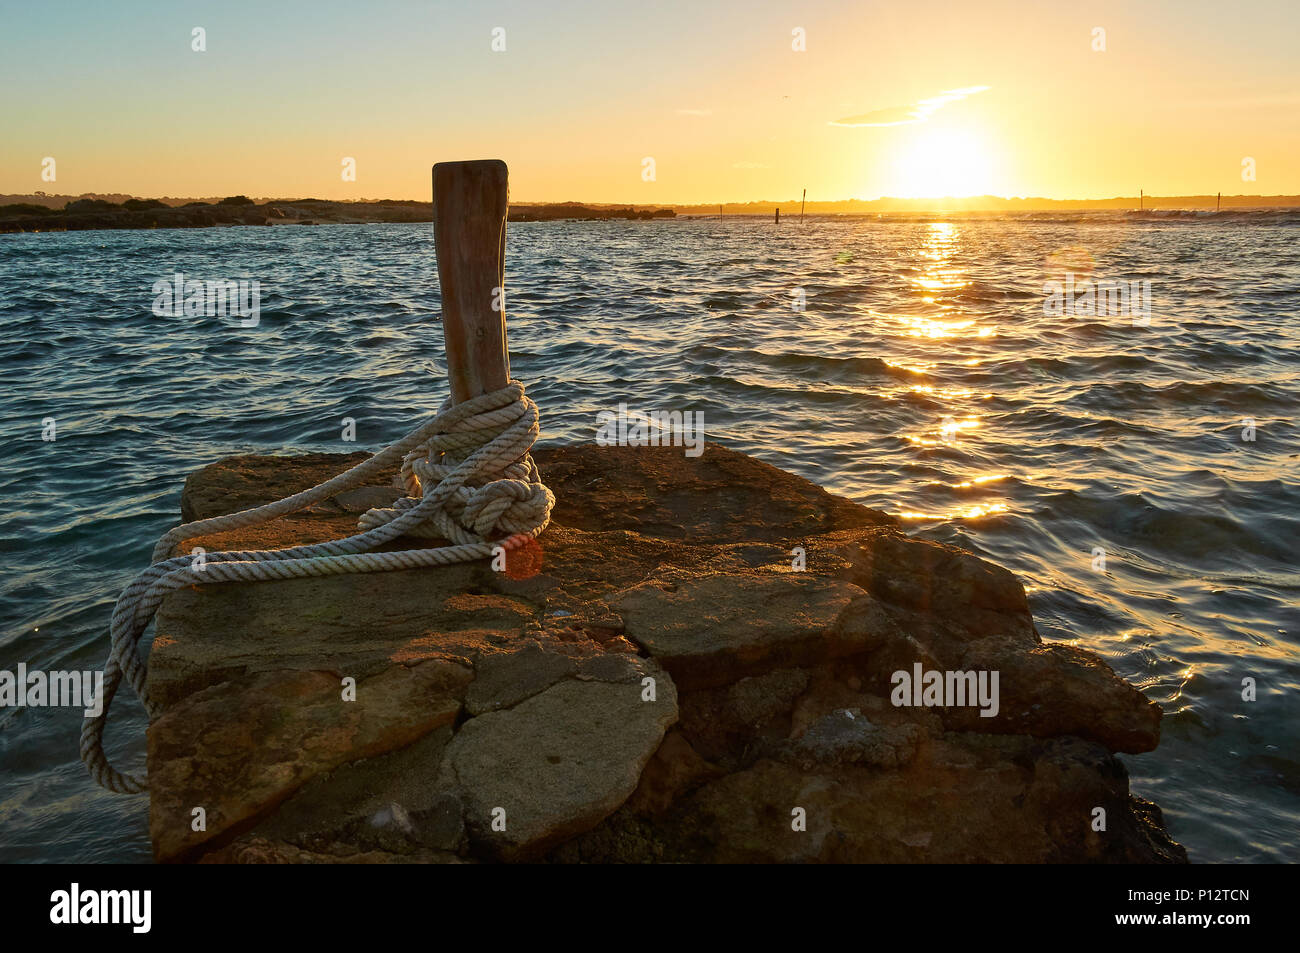
[[[966,129],[922,129],[902,143],[892,194],[904,199],[993,194],[996,164],[988,140]]]

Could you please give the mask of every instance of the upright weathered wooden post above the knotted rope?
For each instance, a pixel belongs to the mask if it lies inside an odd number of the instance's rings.
[[[499,159],[433,166],[434,252],[455,403],[510,382],[506,346],[508,172]]]

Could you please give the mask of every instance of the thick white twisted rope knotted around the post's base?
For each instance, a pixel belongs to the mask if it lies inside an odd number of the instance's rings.
[[[517,549],[541,536],[555,504],[555,497],[542,484],[529,454],[537,434],[537,404],[524,397],[523,384],[511,381],[500,390],[455,406],[448,399],[424,426],[318,486],[276,503],[186,523],[168,532],[153,547],[153,564],[126,586],[113,608],[103,706],[99,715],[88,716],[82,725],[81,755],[91,776],[120,793],[147,788],[143,777],[122,774],[109,764],[104,754],[104,727],[122,679],[135,690],[151,720],[159,714],[150,701],[148,666],[138,645],[169,592],[208,582],[448,566],[486,558],[494,546],[507,551]],[[187,555],[172,556],[176,546],[186,540],[266,523],[303,510],[364,485],[391,469],[398,460],[407,495],[390,508],[363,514],[358,521],[361,532],[356,536],[285,550],[208,553],[202,562]],[[491,541],[502,534],[506,538]],[[399,536],[442,538],[451,545],[400,553],[370,551]]]

